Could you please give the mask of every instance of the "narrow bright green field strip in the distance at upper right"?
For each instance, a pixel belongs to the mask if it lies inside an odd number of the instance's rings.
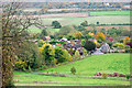
[[[130,14],[130,11],[97,11],[97,12],[90,12],[90,15],[120,15],[120,14]]]

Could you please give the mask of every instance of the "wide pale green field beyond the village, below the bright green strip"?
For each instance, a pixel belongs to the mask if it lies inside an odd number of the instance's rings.
[[[130,15],[99,15],[99,16],[85,16],[85,18],[45,18],[42,19],[45,25],[51,25],[53,21],[58,21],[62,25],[79,25],[84,21],[88,24],[123,24],[130,23]]]

